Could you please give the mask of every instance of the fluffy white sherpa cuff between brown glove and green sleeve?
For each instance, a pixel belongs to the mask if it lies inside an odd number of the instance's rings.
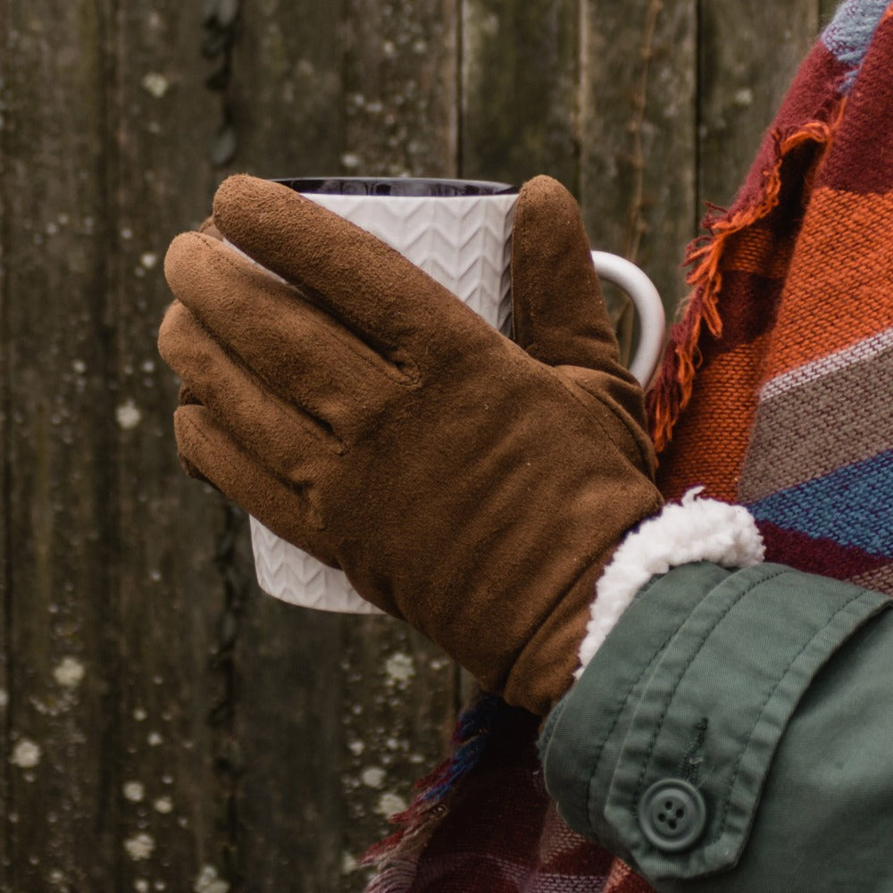
[[[750,567],[763,561],[764,545],[754,516],[741,505],[700,497],[690,489],[680,504],[639,524],[622,540],[596,584],[586,638],[580,644],[577,679],[640,588],[672,567],[710,561]]]

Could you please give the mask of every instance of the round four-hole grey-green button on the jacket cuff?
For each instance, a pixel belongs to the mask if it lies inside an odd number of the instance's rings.
[[[704,833],[706,823],[704,797],[689,781],[655,781],[638,803],[642,833],[664,853],[688,849]]]

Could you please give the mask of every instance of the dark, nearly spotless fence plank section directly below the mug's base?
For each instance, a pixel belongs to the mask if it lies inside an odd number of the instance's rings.
[[[237,880],[246,889],[288,889],[296,877],[313,893],[341,889],[343,625],[263,594],[246,604],[234,704]]]

